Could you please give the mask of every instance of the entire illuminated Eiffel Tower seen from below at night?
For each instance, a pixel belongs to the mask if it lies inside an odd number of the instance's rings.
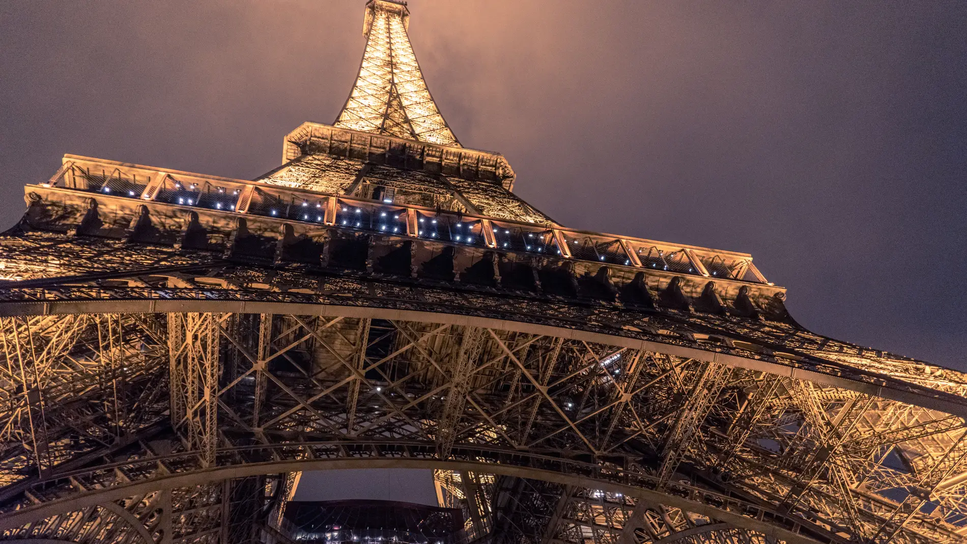
[[[293,544],[302,472],[377,468],[434,471],[452,542],[964,540],[967,375],[803,328],[746,253],[524,202],[408,18],[366,3],[336,122],[256,180],[67,155],[25,187],[0,539]]]

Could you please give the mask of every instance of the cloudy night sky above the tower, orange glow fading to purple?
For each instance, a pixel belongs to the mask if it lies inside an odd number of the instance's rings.
[[[0,4],[0,223],[65,153],[250,179],[363,0]],[[413,0],[467,147],[568,226],[746,251],[806,327],[967,370],[967,2]]]

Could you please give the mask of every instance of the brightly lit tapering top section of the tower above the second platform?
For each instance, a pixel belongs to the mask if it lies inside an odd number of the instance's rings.
[[[363,62],[334,125],[460,147],[426,88],[406,34],[409,16],[402,2],[366,3]]]

